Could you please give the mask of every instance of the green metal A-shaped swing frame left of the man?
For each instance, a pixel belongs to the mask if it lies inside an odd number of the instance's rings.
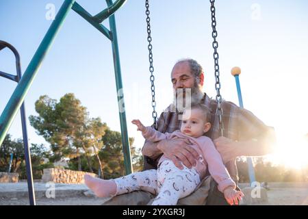
[[[87,12],[84,8],[81,7],[75,0],[65,0],[62,3],[62,6],[57,12],[55,16],[55,20],[51,23],[47,34],[45,34],[42,42],[40,43],[36,53],[31,59],[31,62],[27,66],[23,77],[18,80],[18,85],[16,86],[10,100],[8,101],[7,105],[0,116],[0,146],[12,125],[12,122],[18,112],[18,109],[22,107],[23,101],[29,88],[38,73],[40,65],[44,60],[45,55],[51,48],[51,44],[57,35],[57,32],[60,30],[60,27],[64,23],[64,20],[70,10],[74,10],[82,16],[88,23],[90,23],[93,27],[98,29],[104,36],[106,36],[112,43],[112,53],[113,53],[113,60],[114,60],[114,74],[116,78],[116,94],[119,103],[119,117],[120,117],[120,129],[121,129],[121,136],[122,136],[122,144],[123,144],[123,154],[124,154],[124,164],[125,164],[125,172],[129,174],[132,172],[131,166],[131,152],[129,146],[129,138],[127,133],[127,123],[126,123],[126,114],[123,111],[124,105],[124,94],[123,94],[123,83],[121,77],[121,70],[120,70],[120,55],[118,51],[118,38],[116,34],[116,19],[114,16],[114,12],[118,10],[127,0],[116,0],[114,3],[112,0],[106,0],[107,8],[99,14],[92,16],[89,12]],[[101,23],[109,18],[110,29],[103,26]],[[8,75],[6,75],[8,76]],[[24,139],[25,138],[24,136]],[[29,151],[29,147],[28,147]],[[28,157],[30,155],[28,154]],[[27,171],[31,172],[31,160],[27,159]],[[28,176],[28,186],[31,184],[30,181],[32,180],[31,176]],[[33,190],[33,183],[31,185],[32,189],[29,189],[29,198],[30,198],[30,205],[35,205],[35,195]],[[32,190],[32,192],[31,192]]]

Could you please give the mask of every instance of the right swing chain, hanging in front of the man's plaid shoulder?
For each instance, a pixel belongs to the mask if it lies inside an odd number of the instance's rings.
[[[220,95],[220,79],[219,79],[219,64],[218,64],[218,42],[216,41],[216,37],[217,37],[217,31],[216,31],[216,14],[215,14],[215,0],[209,0],[209,2],[211,3],[211,28],[213,29],[213,31],[211,32],[211,36],[213,37],[214,41],[213,41],[213,49],[214,49],[214,69],[215,69],[215,79],[216,79],[216,83],[215,83],[215,88],[216,88],[216,101],[217,101],[217,111],[216,114],[218,115],[219,118],[219,124],[220,124],[220,136],[223,136],[223,123],[222,123],[222,96]]]

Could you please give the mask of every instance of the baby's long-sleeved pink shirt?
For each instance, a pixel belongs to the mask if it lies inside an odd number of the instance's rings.
[[[207,168],[209,168],[209,173],[218,183],[218,190],[220,190],[220,192],[223,192],[223,190],[228,186],[236,188],[235,182],[231,179],[227,168],[222,163],[222,158],[216,150],[214,143],[207,136],[193,138],[186,136],[179,130],[172,133],[161,133],[152,127],[146,127],[146,131],[142,132],[142,136],[151,142],[165,139],[187,138],[192,143],[192,148],[194,148],[200,155],[199,159],[196,161],[196,166],[192,167],[196,172],[198,172],[200,178],[203,179],[205,177]],[[162,155],[159,159],[158,165],[166,159],[168,158],[165,155]]]

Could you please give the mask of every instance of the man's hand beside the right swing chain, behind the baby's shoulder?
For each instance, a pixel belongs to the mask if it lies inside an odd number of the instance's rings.
[[[237,142],[231,140],[230,138],[219,137],[214,140],[217,151],[222,157],[222,161],[225,163],[229,162],[231,159],[238,157],[238,146]]]

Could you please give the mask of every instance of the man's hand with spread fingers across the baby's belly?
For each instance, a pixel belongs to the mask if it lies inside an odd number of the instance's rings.
[[[187,168],[192,168],[196,165],[196,159],[199,155],[191,146],[188,139],[171,139],[162,140],[157,145],[157,148],[164,153],[166,157],[172,160],[177,168],[183,170],[183,164]]]

